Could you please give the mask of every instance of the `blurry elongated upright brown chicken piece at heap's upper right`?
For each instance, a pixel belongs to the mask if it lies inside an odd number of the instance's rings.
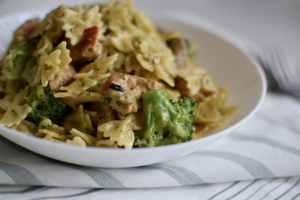
[[[187,73],[189,71],[188,51],[184,40],[181,38],[174,38],[169,40],[169,44],[174,54],[176,55],[177,69],[181,72]]]

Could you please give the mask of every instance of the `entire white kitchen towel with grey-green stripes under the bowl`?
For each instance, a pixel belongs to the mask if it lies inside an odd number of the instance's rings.
[[[300,199],[299,117],[298,100],[268,93],[212,145],[125,169],[63,163],[0,137],[0,199]]]

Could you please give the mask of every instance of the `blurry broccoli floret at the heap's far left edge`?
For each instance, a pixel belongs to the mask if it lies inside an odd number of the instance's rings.
[[[7,51],[4,66],[1,73],[8,80],[22,80],[22,74],[26,63],[32,57],[35,43],[30,40],[23,40]]]

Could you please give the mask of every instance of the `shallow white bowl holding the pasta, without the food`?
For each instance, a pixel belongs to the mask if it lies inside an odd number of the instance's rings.
[[[6,51],[13,31],[20,24],[44,13],[44,10],[35,10],[1,17],[0,53]],[[107,168],[135,167],[164,162],[197,151],[226,136],[257,111],[266,92],[265,75],[260,66],[242,50],[240,43],[199,20],[192,22],[181,17],[175,19],[175,15],[162,14],[154,21],[160,27],[180,30],[185,37],[196,42],[200,47],[199,65],[208,69],[218,85],[228,87],[226,104],[238,106],[238,111],[218,130],[190,142],[132,150],[84,148],[49,142],[3,126],[0,126],[0,134],[24,148],[67,163]]]

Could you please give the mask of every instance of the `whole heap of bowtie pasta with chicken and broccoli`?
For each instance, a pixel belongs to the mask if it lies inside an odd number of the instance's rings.
[[[195,45],[131,0],[60,6],[26,21],[0,61],[0,123],[55,142],[112,148],[186,142],[235,111]]]

